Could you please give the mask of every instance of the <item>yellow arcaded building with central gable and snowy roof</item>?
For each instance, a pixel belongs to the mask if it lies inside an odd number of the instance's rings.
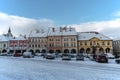
[[[78,32],[79,53],[113,53],[112,39],[98,32]]]

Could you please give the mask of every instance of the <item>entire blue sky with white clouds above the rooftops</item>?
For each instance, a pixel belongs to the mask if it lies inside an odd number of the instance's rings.
[[[72,26],[77,32],[98,31],[120,37],[120,0],[0,0],[0,34]]]

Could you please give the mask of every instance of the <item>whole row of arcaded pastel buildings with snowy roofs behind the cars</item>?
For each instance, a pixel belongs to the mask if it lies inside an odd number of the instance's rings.
[[[11,29],[0,37],[0,52],[32,53],[113,53],[112,39],[98,32],[76,32],[72,27],[49,28],[32,31],[28,38],[13,38]],[[118,41],[119,42],[119,41]],[[114,51],[119,45],[114,41]]]

